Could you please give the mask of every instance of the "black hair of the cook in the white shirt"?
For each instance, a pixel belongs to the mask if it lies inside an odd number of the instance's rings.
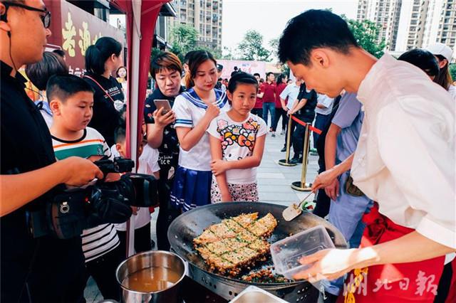
[[[331,11],[310,9],[292,18],[279,39],[279,60],[309,65],[311,50],[331,48],[348,53],[359,47],[346,21]]]

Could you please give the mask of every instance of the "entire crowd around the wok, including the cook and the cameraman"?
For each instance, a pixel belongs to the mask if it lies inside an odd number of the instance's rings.
[[[128,154],[123,46],[99,38],[86,50],[83,77],[70,75],[65,53],[43,53],[51,16],[41,1],[0,1],[0,9],[1,301],[84,302],[89,277],[105,299],[120,300],[115,269],[128,255],[125,223],[90,226],[65,240],[36,224],[66,186],[120,178],[103,176],[88,158]],[[259,201],[256,168],[280,120],[281,134],[291,134],[291,163],[306,159],[306,127],[289,124],[294,116],[321,130],[313,135],[320,166],[314,214],[341,230],[350,248],[304,257],[311,266],[296,278],[323,280],[324,302],[410,299],[415,289],[391,287],[423,269],[436,282],[454,280],[452,50],[437,43],[377,60],[342,18],[311,10],[287,24],[278,54],[295,80],[241,70],[222,79],[223,66],[207,50],[192,50],[183,63],[167,51],[152,58],[156,86],[145,100],[136,168],[157,179],[157,249],[170,249],[167,229],[185,211]],[[33,86],[24,85],[22,66]],[[430,182],[422,186],[425,174]],[[125,208],[135,251],[151,250],[154,208]],[[365,279],[367,296],[344,287],[348,272],[357,287]],[[389,288],[374,292],[385,279]],[[450,298],[449,285],[442,282],[438,295]]]

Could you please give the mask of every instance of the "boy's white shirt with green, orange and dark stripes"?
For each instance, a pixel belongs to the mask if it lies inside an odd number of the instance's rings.
[[[73,141],[52,136],[52,145],[58,160],[66,159],[69,156],[81,156],[83,158],[103,154],[110,156],[110,149],[105,139],[91,127],[86,127],[83,136]],[[119,245],[117,230],[111,223],[84,230],[82,240],[86,262],[105,255]]]

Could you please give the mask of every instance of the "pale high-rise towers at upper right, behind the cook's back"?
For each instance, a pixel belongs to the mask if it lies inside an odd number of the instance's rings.
[[[455,49],[456,0],[358,0],[358,20],[380,26],[387,50],[445,43]]]

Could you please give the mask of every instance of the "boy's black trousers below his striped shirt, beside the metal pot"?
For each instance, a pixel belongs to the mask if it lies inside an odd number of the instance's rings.
[[[104,299],[120,301],[120,286],[115,279],[115,270],[125,259],[122,252],[119,245],[105,255],[86,262],[87,280],[90,276],[93,277]]]

